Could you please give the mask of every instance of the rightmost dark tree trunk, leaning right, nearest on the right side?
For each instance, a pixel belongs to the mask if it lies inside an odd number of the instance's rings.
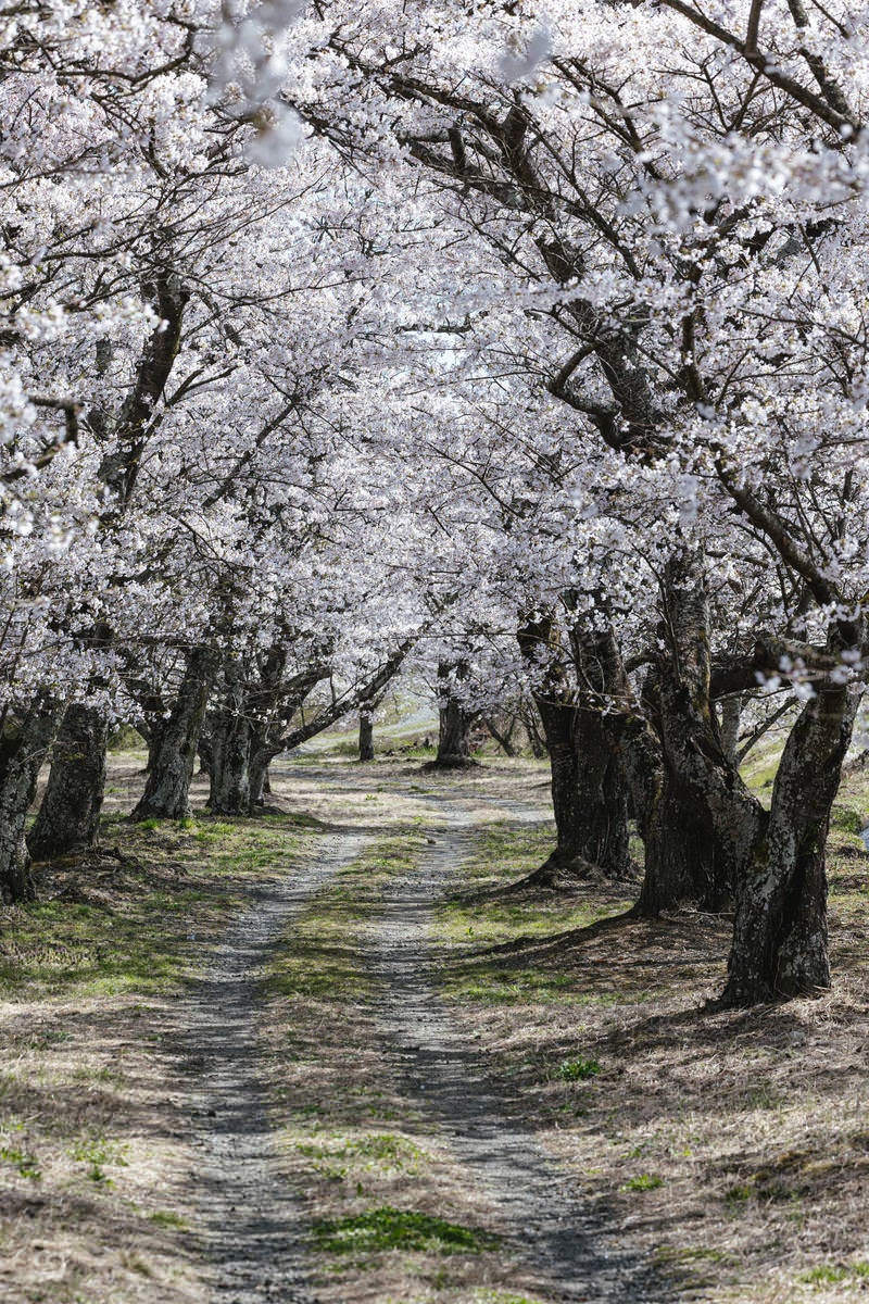
[[[791,730],[737,897],[726,1005],[830,986],[826,838],[859,700],[826,683]]]

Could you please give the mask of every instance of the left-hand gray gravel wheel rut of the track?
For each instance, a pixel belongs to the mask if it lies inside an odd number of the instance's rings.
[[[214,1269],[215,1304],[304,1304],[310,1297],[298,1205],[278,1171],[259,1068],[261,983],[293,915],[362,845],[354,833],[328,835],[301,875],[259,889],[181,1012],[201,1151],[197,1221]]]

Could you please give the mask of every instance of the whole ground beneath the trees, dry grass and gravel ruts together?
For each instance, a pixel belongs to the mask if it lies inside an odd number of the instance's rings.
[[[275,768],[281,815],[134,829],[139,771],[109,780],[116,858],[40,870],[0,921],[4,1299],[865,1296],[865,776],[830,844],[833,991],[713,1016],[727,918],[509,892],[551,850],[541,765],[306,758]],[[331,986],[275,987],[293,949]],[[318,1243],[378,1208],[500,1243]]]

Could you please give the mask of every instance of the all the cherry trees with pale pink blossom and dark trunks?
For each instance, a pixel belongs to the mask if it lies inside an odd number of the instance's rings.
[[[40,854],[94,835],[112,719],[139,815],[185,810],[206,712],[212,807],[246,810],[416,669],[459,722],[534,696],[552,879],[623,875],[633,819],[642,913],[735,900],[726,1001],[826,986],[862,12],[3,12],[4,892],[55,738]],[[740,735],[771,712],[765,810]]]

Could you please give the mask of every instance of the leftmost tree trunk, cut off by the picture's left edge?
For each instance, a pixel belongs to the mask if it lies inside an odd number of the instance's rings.
[[[25,823],[59,721],[59,705],[40,695],[0,737],[0,897],[7,902],[35,896]]]

